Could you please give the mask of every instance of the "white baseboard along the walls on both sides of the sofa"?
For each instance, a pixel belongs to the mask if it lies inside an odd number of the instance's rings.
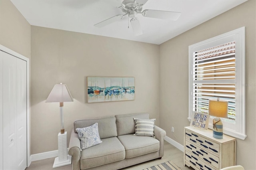
[[[184,147],[183,145],[179,144],[178,142],[176,142],[175,140],[169,138],[168,136],[164,137],[164,140],[166,140],[168,143],[172,144],[173,146],[175,146],[176,148],[178,148],[179,150],[181,150],[182,152],[184,152]],[[67,148],[68,150],[68,148]],[[67,151],[68,152],[68,151]],[[58,150],[52,150],[52,151],[48,151],[48,152],[43,152],[43,153],[38,153],[38,154],[32,154],[30,156],[30,163],[32,161],[36,161],[36,160],[42,160],[42,159],[47,159],[47,158],[54,158],[58,156]]]

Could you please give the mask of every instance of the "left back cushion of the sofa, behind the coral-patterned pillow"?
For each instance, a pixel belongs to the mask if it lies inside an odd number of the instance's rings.
[[[75,121],[74,131],[76,132],[76,128],[89,127],[94,123],[98,123],[99,134],[101,139],[117,136],[116,117],[114,116]]]

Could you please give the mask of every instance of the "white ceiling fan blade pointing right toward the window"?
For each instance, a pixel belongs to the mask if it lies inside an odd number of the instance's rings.
[[[142,16],[150,17],[150,18],[159,18],[159,19],[167,19],[167,20],[178,20],[180,17],[180,12],[172,12],[172,11],[159,11],[159,10],[144,10],[142,12]]]

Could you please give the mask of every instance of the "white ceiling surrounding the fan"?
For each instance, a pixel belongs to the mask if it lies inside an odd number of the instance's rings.
[[[171,21],[138,14],[136,17],[140,20],[143,32],[140,36],[134,36],[131,26],[128,28],[128,16],[103,28],[94,26],[112,16],[123,14],[121,9],[111,6],[108,1],[11,0],[33,26],[153,44],[166,42],[247,0],[148,0],[142,10],[181,12],[181,16],[177,21]]]

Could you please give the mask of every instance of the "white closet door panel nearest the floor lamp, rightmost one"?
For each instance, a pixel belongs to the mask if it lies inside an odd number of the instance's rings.
[[[19,170],[26,168],[27,154],[27,82],[26,61],[17,58],[17,165]]]

